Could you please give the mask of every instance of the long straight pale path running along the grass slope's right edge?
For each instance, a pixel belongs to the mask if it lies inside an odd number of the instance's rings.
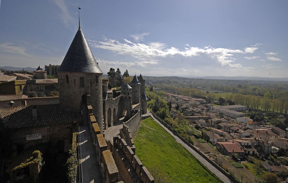
[[[185,149],[187,149],[195,158],[197,158],[202,164],[204,164],[211,172],[213,172],[216,176],[218,176],[223,182],[230,183],[230,179],[226,177],[223,173],[221,173],[218,169],[216,169],[212,164],[210,164],[206,159],[204,159],[201,155],[199,155],[195,150],[185,144],[179,137],[174,135],[168,128],[166,128],[163,124],[161,124],[157,119],[155,119],[151,112],[145,114],[151,115],[151,117],[160,125],[163,129],[165,129],[175,140],[181,144]]]

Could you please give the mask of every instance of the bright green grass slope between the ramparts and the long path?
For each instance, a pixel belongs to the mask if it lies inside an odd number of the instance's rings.
[[[141,121],[134,145],[143,166],[159,165],[173,182],[220,182],[151,117]]]

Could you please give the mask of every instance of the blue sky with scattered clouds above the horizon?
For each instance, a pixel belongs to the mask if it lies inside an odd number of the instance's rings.
[[[61,64],[78,29],[106,74],[288,77],[288,1],[10,1],[0,66]]]

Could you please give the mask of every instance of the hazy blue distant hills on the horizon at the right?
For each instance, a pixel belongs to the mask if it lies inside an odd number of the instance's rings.
[[[202,79],[215,79],[215,80],[288,81],[288,77],[203,76],[203,77],[188,77],[188,78],[202,78]]]

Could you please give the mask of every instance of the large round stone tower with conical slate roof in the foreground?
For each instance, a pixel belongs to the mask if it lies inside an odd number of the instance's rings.
[[[103,130],[102,81],[103,72],[98,66],[89,45],[79,29],[58,68],[60,106],[68,111],[81,112],[82,105],[91,105],[93,114]],[[91,97],[87,98],[90,94]]]

